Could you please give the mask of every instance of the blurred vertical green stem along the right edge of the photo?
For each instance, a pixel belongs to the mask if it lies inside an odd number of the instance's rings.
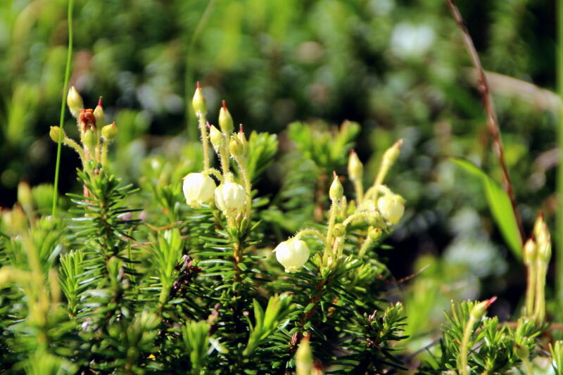
[[[557,1],[557,89],[559,98],[563,99],[563,1]],[[557,132],[559,150],[563,150],[563,115],[559,109],[559,127]],[[559,163],[557,168],[557,196],[563,197],[563,163]],[[557,291],[557,301],[560,307],[563,306],[563,199],[557,200],[557,230],[555,239],[557,241],[555,256],[555,284]],[[561,319],[559,315],[559,319]]]

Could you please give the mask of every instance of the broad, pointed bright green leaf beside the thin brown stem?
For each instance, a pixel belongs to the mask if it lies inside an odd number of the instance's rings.
[[[500,228],[502,236],[517,258],[522,258],[522,242],[520,237],[520,231],[518,230],[518,224],[516,222],[516,217],[514,217],[514,211],[512,211],[512,204],[510,203],[510,198],[507,192],[502,189],[502,187],[495,182],[491,177],[483,172],[479,167],[471,163],[469,160],[464,160],[460,158],[451,158],[453,163],[459,165],[467,172],[473,174],[475,177],[481,179],[481,184],[485,190],[485,196],[487,198],[488,207],[491,209],[493,214],[493,219]]]

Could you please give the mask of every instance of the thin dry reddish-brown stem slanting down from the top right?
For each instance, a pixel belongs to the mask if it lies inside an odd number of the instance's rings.
[[[465,46],[467,47],[467,51],[469,52],[469,57],[472,60],[473,65],[475,66],[475,70],[477,72],[477,89],[479,89],[479,94],[481,94],[481,98],[483,99],[483,105],[485,106],[485,112],[487,116],[487,128],[488,132],[491,134],[491,138],[493,139],[493,150],[498,158],[498,163],[500,165],[500,169],[502,170],[502,179],[504,188],[510,198],[510,203],[512,204],[512,211],[514,212],[514,218],[516,219],[518,230],[520,232],[520,243],[524,243],[524,229],[522,229],[522,221],[520,214],[517,210],[516,205],[516,198],[514,196],[514,189],[512,189],[512,182],[510,181],[510,174],[508,173],[508,168],[505,162],[505,152],[504,148],[502,147],[502,140],[500,139],[500,131],[498,127],[498,120],[495,115],[495,106],[493,104],[493,98],[491,98],[490,89],[487,82],[487,77],[485,75],[485,70],[483,70],[483,65],[481,65],[481,60],[479,59],[479,54],[477,53],[475,46],[473,44],[473,39],[471,35],[469,35],[469,30],[467,30],[467,26],[462,18],[462,15],[455,6],[453,0],[446,0],[448,2],[448,6],[450,6],[450,11],[452,11],[453,18],[460,29],[463,32],[463,39],[465,42]]]

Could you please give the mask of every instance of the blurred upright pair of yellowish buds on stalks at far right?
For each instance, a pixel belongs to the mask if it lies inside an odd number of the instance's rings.
[[[540,212],[533,234],[524,244],[524,265],[528,272],[524,314],[537,324],[545,319],[545,277],[551,259],[551,235]]]

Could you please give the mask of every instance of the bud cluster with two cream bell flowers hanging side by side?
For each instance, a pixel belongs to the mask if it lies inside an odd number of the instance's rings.
[[[246,136],[242,126],[238,133],[233,133],[233,119],[224,101],[219,111],[220,129],[207,122],[205,118],[207,105],[199,82],[192,104],[198,117],[203,143],[203,171],[190,173],[184,177],[183,190],[186,203],[191,208],[215,203],[215,207],[227,217],[229,227],[236,227],[237,222],[244,217],[249,219],[251,215],[251,184],[246,167],[248,156]],[[208,141],[220,158],[221,170],[210,167]],[[235,160],[244,186],[234,181],[230,171],[230,158]],[[210,175],[217,178],[220,182],[219,186],[215,185]]]

